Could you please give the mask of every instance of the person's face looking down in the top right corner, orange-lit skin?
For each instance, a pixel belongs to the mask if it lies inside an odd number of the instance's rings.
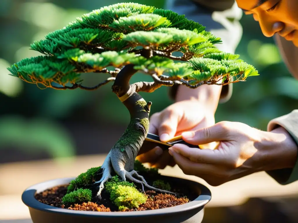
[[[236,0],[246,15],[253,15],[263,34],[275,33],[298,47],[298,0]]]

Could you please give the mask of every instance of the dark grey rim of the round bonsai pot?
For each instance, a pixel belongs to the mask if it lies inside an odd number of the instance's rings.
[[[191,209],[196,209],[201,206],[206,205],[211,200],[211,191],[201,183],[195,182],[193,180],[187,180],[183,178],[176,178],[170,176],[163,176],[164,178],[169,178],[172,180],[178,180],[183,184],[193,184],[200,188],[201,193],[200,195],[193,201],[183,204],[177,205],[170,208],[162,208],[162,209],[155,209],[155,210],[146,210],[146,211],[128,211],[128,212],[98,212],[98,211],[77,211],[77,210],[69,210],[65,208],[57,208],[51,205],[46,205],[44,203],[39,202],[35,199],[35,193],[39,193],[46,189],[49,189],[54,186],[63,185],[69,183],[71,180],[75,178],[58,178],[54,180],[48,180],[42,183],[37,183],[29,188],[27,188],[22,194],[22,201],[23,203],[28,206],[29,208],[33,208],[39,211],[45,212],[52,212],[52,213],[61,213],[61,214],[71,214],[71,215],[78,215],[78,216],[105,216],[105,217],[129,217],[129,216],[146,216],[146,215],[164,215],[164,214],[171,214],[177,212],[184,212],[189,211]],[[179,183],[180,183],[179,182]]]

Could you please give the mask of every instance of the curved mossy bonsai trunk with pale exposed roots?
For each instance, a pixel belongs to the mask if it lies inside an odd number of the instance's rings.
[[[174,194],[148,185],[146,180],[134,170],[134,161],[149,130],[151,102],[146,103],[142,96],[136,92],[136,86],[129,84],[130,78],[136,73],[133,67],[134,65],[126,65],[118,73],[112,86],[113,92],[128,109],[131,120],[124,134],[108,153],[101,166],[102,178],[95,182],[100,183],[98,197],[104,188],[104,183],[111,178],[112,168],[122,180],[129,179],[134,183],[141,183],[143,191],[146,186],[151,190]]]

